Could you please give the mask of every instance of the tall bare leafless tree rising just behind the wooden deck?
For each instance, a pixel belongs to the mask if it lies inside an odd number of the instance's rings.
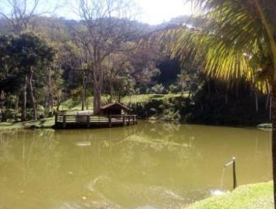
[[[112,53],[126,51],[122,44],[137,33],[133,29],[131,0],[77,0],[77,12],[88,33],[88,51],[92,62],[94,113],[101,108],[103,62]]]

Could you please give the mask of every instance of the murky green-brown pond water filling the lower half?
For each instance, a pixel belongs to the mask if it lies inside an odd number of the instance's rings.
[[[186,208],[272,179],[270,132],[164,125],[0,131],[0,208]]]

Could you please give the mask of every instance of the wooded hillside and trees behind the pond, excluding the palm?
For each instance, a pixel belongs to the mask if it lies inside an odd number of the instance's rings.
[[[229,85],[213,79],[190,48],[181,52],[185,57],[172,57],[168,37],[159,38],[179,24],[199,26],[203,18],[149,26],[131,19],[128,7],[121,6],[121,17],[80,7],[81,21],[75,21],[43,17],[14,1],[10,10],[21,17],[0,19],[1,120],[52,116],[69,100],[75,104],[69,109],[96,114],[102,104],[123,102],[141,118],[162,121],[257,125],[270,120],[270,91],[248,80]],[[132,99],[140,95],[148,99]]]

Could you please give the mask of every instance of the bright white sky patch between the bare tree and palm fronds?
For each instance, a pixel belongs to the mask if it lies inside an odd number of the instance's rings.
[[[184,0],[137,0],[141,8],[139,20],[148,24],[161,24],[172,17],[191,15],[191,6]]]

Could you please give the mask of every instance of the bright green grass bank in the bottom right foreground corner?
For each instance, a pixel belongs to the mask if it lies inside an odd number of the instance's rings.
[[[188,209],[274,209],[273,183],[243,185],[231,193],[199,201]]]

